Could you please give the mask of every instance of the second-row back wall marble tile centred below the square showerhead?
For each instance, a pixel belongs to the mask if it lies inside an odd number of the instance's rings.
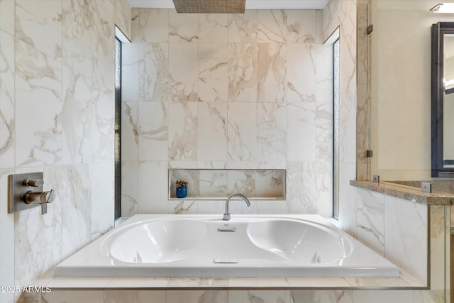
[[[199,43],[199,98],[227,101],[228,44]]]

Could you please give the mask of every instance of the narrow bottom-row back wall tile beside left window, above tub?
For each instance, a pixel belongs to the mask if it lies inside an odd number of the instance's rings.
[[[121,161],[121,216],[138,214],[138,161]]]

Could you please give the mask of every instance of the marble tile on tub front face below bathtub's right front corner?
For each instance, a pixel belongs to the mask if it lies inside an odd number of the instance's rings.
[[[353,290],[353,303],[413,303],[413,290]]]

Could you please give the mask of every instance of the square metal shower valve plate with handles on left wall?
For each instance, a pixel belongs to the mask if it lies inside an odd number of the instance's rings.
[[[41,206],[41,214],[48,212],[48,203],[55,197],[55,190],[43,192],[43,172],[31,172],[8,176],[8,212]]]

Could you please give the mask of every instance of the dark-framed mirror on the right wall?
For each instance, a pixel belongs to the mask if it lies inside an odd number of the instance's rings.
[[[454,177],[454,22],[432,25],[432,177]]]

